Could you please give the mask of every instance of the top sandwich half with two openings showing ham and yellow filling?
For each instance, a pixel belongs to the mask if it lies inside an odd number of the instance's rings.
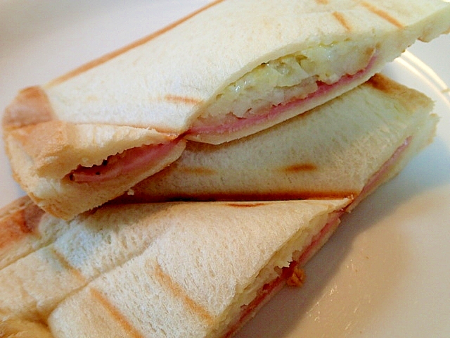
[[[3,120],[15,180],[70,218],[173,162],[182,139],[220,144],[281,123],[449,28],[441,0],[214,1],[21,91]]]

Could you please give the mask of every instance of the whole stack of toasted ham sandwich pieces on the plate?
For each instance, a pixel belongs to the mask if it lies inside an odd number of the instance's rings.
[[[432,141],[377,73],[441,0],[226,0],[6,108],[0,337],[230,337]]]

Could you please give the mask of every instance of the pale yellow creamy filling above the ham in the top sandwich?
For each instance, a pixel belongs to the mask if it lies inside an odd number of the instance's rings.
[[[366,68],[373,46],[339,42],[316,46],[262,63],[229,84],[205,109],[202,118],[233,113],[238,118],[316,92],[318,82],[333,84]]]

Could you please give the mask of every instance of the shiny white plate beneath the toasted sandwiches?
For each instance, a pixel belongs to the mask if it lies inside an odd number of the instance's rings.
[[[0,109],[148,35],[206,0],[0,0]],[[416,43],[388,65],[435,99],[435,142],[378,189],[238,337],[450,337],[450,37]],[[439,77],[437,76],[439,75]],[[0,141],[0,207],[22,196]]]

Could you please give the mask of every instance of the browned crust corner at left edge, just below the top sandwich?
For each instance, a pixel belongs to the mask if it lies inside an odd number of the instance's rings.
[[[0,218],[0,249],[17,242],[27,234],[32,234],[39,227],[44,211],[32,203],[28,197],[21,198],[22,204],[18,210],[1,215]],[[13,206],[8,206],[13,207]]]

